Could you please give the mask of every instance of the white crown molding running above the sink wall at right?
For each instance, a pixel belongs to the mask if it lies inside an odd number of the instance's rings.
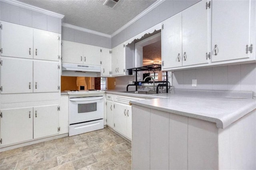
[[[148,14],[148,12],[152,11],[154,8],[156,8],[158,5],[162,4],[165,0],[157,0],[154,4],[149,6],[146,10],[144,10],[142,13],[140,13],[138,16],[130,20],[127,24],[116,30],[113,34],[111,34],[111,38],[116,36],[118,33],[120,33],[122,30],[126,29],[128,26],[132,25],[134,22],[142,18],[144,15]]]

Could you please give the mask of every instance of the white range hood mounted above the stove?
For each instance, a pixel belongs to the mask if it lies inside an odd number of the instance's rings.
[[[62,63],[62,76],[100,77],[101,66]]]

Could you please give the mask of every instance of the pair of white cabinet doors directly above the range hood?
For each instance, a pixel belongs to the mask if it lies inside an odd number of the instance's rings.
[[[86,65],[100,65],[101,47],[62,41],[62,62]]]

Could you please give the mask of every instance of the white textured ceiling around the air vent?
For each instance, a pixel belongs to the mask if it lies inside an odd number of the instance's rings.
[[[63,23],[104,34],[113,34],[156,0],[119,0],[112,9],[105,0],[18,0],[32,6],[63,14]]]

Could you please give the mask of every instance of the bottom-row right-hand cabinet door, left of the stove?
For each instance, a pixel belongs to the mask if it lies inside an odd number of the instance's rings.
[[[34,139],[58,134],[58,105],[34,107]]]

